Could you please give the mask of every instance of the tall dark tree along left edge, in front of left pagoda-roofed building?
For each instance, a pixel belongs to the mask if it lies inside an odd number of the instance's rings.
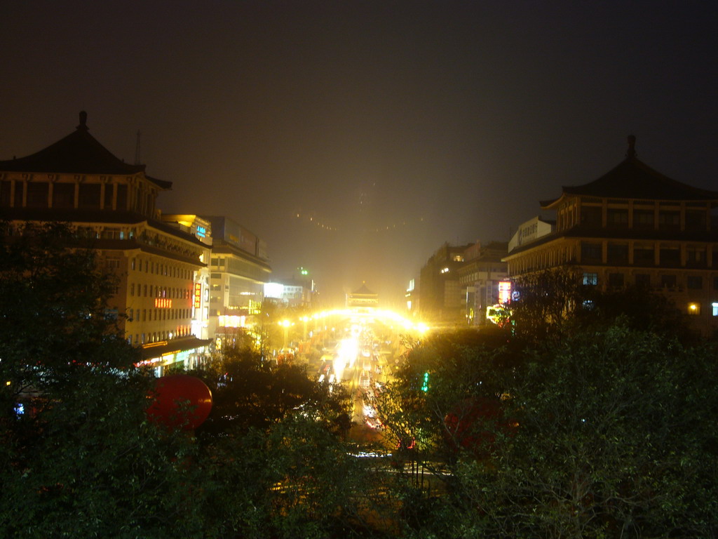
[[[0,249],[2,534],[201,536],[194,448],[147,423],[93,253],[59,224]]]

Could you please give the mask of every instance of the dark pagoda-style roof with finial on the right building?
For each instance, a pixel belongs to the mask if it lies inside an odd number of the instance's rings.
[[[590,183],[561,189],[563,194],[559,198],[541,201],[541,208],[554,209],[562,198],[572,195],[649,201],[718,201],[718,192],[672,180],[638,160],[633,135],[628,137],[628,152],[619,165]]]

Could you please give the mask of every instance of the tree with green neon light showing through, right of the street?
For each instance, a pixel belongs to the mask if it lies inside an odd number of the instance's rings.
[[[509,333],[438,333],[411,349],[378,397],[386,436],[407,459],[452,465],[461,451],[484,451],[494,430],[506,374],[525,361]],[[401,456],[401,455],[400,455]],[[452,478],[447,476],[447,481]]]

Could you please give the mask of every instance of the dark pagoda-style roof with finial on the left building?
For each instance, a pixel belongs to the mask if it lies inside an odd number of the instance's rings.
[[[98,142],[89,133],[87,113],[80,112],[75,131],[55,144],[32,155],[0,161],[4,172],[47,172],[59,174],[134,175],[144,172],[145,165],[129,165]],[[145,176],[157,187],[172,188],[172,182]]]

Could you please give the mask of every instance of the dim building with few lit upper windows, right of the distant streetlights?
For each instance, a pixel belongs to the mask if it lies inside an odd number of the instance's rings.
[[[466,299],[462,298],[458,270],[464,264],[464,252],[470,245],[446,243],[421,268],[419,312],[425,320],[464,321]]]

